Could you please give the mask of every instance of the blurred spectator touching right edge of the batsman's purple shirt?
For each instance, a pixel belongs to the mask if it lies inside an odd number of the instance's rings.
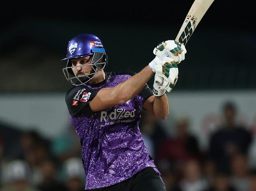
[[[148,111],[141,111],[140,130],[150,156],[155,159],[155,153],[160,144],[167,138],[158,120]]]

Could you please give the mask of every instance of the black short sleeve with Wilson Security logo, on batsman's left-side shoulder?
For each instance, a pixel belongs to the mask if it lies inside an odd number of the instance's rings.
[[[66,104],[71,116],[91,115],[93,111],[89,103],[100,89],[90,89],[78,86],[70,89],[66,95]]]

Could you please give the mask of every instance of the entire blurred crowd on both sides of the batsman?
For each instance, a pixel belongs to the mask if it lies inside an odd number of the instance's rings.
[[[167,191],[256,191],[256,147],[250,128],[237,124],[236,106],[223,105],[221,126],[207,149],[182,115],[169,135],[142,111],[141,134]],[[35,131],[0,134],[0,191],[82,191],[85,177],[80,140],[72,127],[46,140]],[[7,150],[6,150],[7,148]]]

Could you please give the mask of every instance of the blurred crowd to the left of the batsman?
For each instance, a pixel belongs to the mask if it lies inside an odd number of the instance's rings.
[[[84,190],[80,140],[73,127],[51,141],[35,131],[1,140],[0,148],[11,147],[0,156],[0,191]]]

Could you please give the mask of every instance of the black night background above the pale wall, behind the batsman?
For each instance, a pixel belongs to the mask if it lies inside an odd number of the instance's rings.
[[[106,71],[139,72],[154,47],[175,39],[193,1],[34,2],[2,11],[1,92],[66,91],[68,41],[93,33],[109,56]],[[252,4],[215,1],[186,45],[176,89],[252,89],[256,69]],[[152,79],[148,83],[152,87]]]

